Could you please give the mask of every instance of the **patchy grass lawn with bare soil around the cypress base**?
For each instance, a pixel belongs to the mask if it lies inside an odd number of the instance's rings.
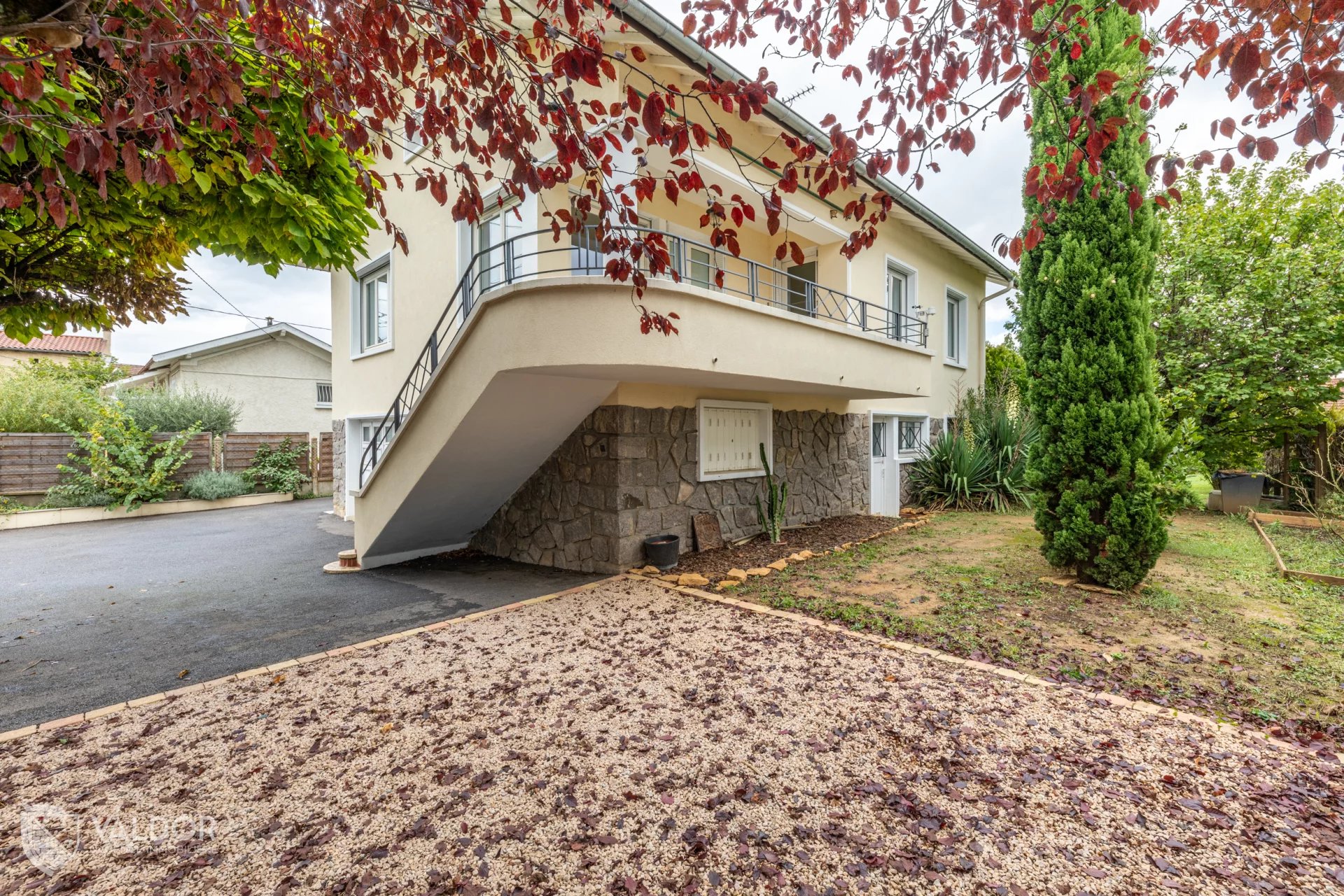
[[[943,513],[738,594],[1224,719],[1344,721],[1344,588],[1278,578],[1246,520],[1179,516],[1125,596],[1042,583],[1039,545],[1028,513]]]

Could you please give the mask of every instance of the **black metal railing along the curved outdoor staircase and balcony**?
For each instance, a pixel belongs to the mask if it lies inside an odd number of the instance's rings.
[[[770,265],[737,258],[722,249],[716,250],[684,236],[642,227],[626,227],[622,231],[632,240],[642,239],[642,234],[659,234],[668,249],[672,271],[676,271],[683,283],[738,296],[805,317],[835,321],[910,345],[925,347],[929,343],[926,321],[894,312],[886,305],[866,302]],[[415,359],[415,365],[398,390],[392,407],[374,429],[360,455],[359,488],[368,481],[388,442],[419,404],[421,396],[425,395],[430,380],[448,357],[462,325],[482,296],[519,281],[573,274],[603,275],[605,266],[606,257],[597,246],[595,235],[589,231],[573,235],[567,246],[554,243],[550,230],[519,234],[472,255],[425,348]],[[672,274],[661,273],[650,275],[650,279],[672,279]]]

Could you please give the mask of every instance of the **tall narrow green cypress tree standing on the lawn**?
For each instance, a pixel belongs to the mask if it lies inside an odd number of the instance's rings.
[[[1032,91],[1032,164],[1068,159],[1068,102],[1075,85],[1098,71],[1121,82],[1098,101],[1098,122],[1124,118],[1120,137],[1102,152],[1102,175],[1083,176],[1071,203],[1056,203],[1044,236],[1023,254],[1020,322],[1028,369],[1028,403],[1040,422],[1030,482],[1038,492],[1042,552],[1083,580],[1129,588],[1144,579],[1167,545],[1167,521],[1154,497],[1154,470],[1165,439],[1153,390],[1156,347],[1149,310],[1157,249],[1150,203],[1130,212],[1128,189],[1142,193],[1145,114],[1130,103],[1145,59],[1138,16],[1107,4],[1089,23],[1090,42],[1077,59],[1066,42],[1050,78]],[[1058,148],[1050,156],[1048,148]],[[1093,187],[1099,193],[1093,197]],[[1028,224],[1044,207],[1024,200]]]

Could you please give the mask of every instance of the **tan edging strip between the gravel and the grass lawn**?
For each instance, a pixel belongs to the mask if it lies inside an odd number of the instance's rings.
[[[1068,684],[1060,681],[1050,681],[1048,678],[1040,678],[1038,676],[1030,676],[1024,672],[1017,672],[1016,669],[1005,669],[1004,666],[996,666],[989,662],[980,662],[977,660],[965,660],[962,657],[953,656],[950,653],[943,653],[942,650],[934,650],[933,647],[923,647],[909,641],[896,641],[895,638],[887,638],[879,634],[872,634],[870,631],[853,631],[852,629],[845,629],[844,626],[835,625],[833,622],[827,622],[816,617],[804,615],[801,613],[790,613],[788,610],[777,610],[774,607],[767,607],[761,603],[753,603],[750,600],[743,600],[741,598],[732,598],[723,594],[711,594],[708,591],[702,591],[700,588],[692,588],[684,584],[675,584],[672,582],[663,582],[661,579],[644,575],[629,575],[628,579],[636,582],[649,582],[659,587],[667,588],[669,591],[679,591],[702,600],[710,600],[712,603],[722,603],[731,607],[738,607],[739,610],[747,610],[750,613],[758,613],[762,615],[778,617],[781,619],[789,619],[792,622],[801,622],[802,625],[809,625],[817,629],[825,629],[828,631],[835,631],[851,638],[859,638],[860,641],[870,641],[887,650],[903,650],[906,653],[914,653],[930,660],[937,660],[939,662],[946,662],[949,665],[958,665],[968,669],[974,669],[977,672],[984,672],[1008,681],[1016,681],[1017,684],[1028,684],[1043,688],[1056,688],[1071,690],[1083,695],[1091,700],[1101,700],[1102,703],[1109,703],[1114,707],[1134,709],[1149,716],[1161,716],[1164,719],[1173,719],[1176,721],[1193,721],[1198,724],[1212,727],[1219,732],[1236,733],[1245,737],[1251,737],[1255,740],[1262,740],[1267,744],[1281,747],[1284,750],[1292,750],[1296,752],[1302,752],[1314,756],[1310,750],[1292,743],[1290,740],[1282,740],[1279,737],[1270,737],[1269,735],[1255,731],[1254,728],[1246,728],[1245,725],[1236,725],[1230,721],[1219,721],[1216,719],[1210,719],[1208,716],[1200,716],[1193,712],[1185,712],[1183,709],[1171,709],[1168,707],[1160,707],[1156,703],[1148,703],[1146,700],[1130,700],[1129,697],[1121,697],[1120,695],[1099,692],[1099,690],[1083,690],[1082,688],[1074,688]]]

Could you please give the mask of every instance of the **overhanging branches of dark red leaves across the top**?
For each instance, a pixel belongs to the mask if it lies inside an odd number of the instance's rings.
[[[1344,153],[1336,136],[1344,101],[1340,43],[1344,0],[1195,0],[1164,7],[1128,0],[1142,12],[1145,34],[1132,40],[1153,60],[1144,89],[1129,102],[1148,109],[1180,102],[1192,78],[1226,75],[1228,94],[1246,94],[1255,113],[1212,122],[1208,145],[1149,161],[1164,192],[1142,196],[1132,184],[1105,179],[1130,193],[1133,207],[1179,199],[1173,185],[1187,165],[1232,167],[1238,157],[1273,159],[1284,141],[1313,148],[1310,165]],[[500,201],[562,183],[583,184],[571,214],[554,216],[556,235],[593,215],[614,258],[607,273],[637,289],[644,271],[668,266],[657,236],[625,236],[636,223],[638,197],[663,191],[676,200],[704,203],[702,226],[710,239],[737,251],[737,230],[763,216],[771,234],[786,218],[784,196],[808,188],[820,196],[843,193],[852,226],[847,253],[871,244],[894,199],[879,177],[918,188],[938,169],[939,152],[970,153],[989,121],[1050,114],[1063,122],[1064,145],[1044,165],[1027,172],[1024,189],[1051,203],[1073,200],[1082,172],[1105,175],[1102,150],[1117,122],[1093,110],[1117,89],[1113,73],[1073,86],[1067,102],[1030,110],[1028,89],[1044,77],[1054,54],[1079,54],[1086,21],[1097,7],[1043,0],[688,0],[683,30],[714,46],[746,44],[761,30],[774,31],[790,52],[864,91],[849,122],[823,121],[827,141],[782,137],[781,159],[759,160],[777,175],[747,195],[707,188],[696,152],[731,145],[730,118],[766,111],[774,86],[765,69],[755,78],[724,79],[703,73],[688,85],[660,83],[603,102],[585,98],[586,86],[622,82],[641,70],[637,46],[618,51],[610,36],[629,30],[622,7],[594,0],[23,0],[0,17],[0,211],[79,215],[73,179],[105,188],[112,177],[171,185],[171,154],[184,126],[204,125],[227,134],[251,171],[270,165],[274,134],[255,90],[239,89],[241,73],[263,73],[278,85],[298,85],[308,97],[314,134],[339,137],[371,208],[406,247],[390,220],[383,193],[391,187],[429,191],[458,220],[476,220],[482,195],[499,188]],[[246,46],[231,39],[245,27]],[[8,36],[4,36],[8,35]],[[637,40],[636,40],[637,43]],[[43,129],[35,99],[71,86],[74,73],[113,73],[99,83],[95,114],[59,133]],[[251,85],[257,87],[257,85]],[[44,94],[46,91],[46,94]],[[255,121],[241,128],[241,107]],[[688,111],[696,114],[687,114]],[[261,113],[261,114],[258,114]],[[259,118],[259,121],[258,121]],[[69,124],[69,122],[67,122]],[[644,137],[636,138],[636,129]],[[1340,129],[1344,130],[1344,129]],[[134,133],[141,152],[128,152]],[[146,134],[149,137],[146,137]],[[433,144],[418,157],[410,183],[380,171],[406,137]],[[15,161],[23,141],[63,141],[63,164]],[[646,169],[614,177],[621,153],[645,141],[668,150],[665,173]],[[28,153],[31,157],[32,153]],[[148,154],[148,159],[146,159]],[[129,171],[128,165],[134,165]],[[1050,215],[1050,212],[1044,212]],[[1005,239],[1000,251],[1017,258],[1039,239],[1038,222]],[[778,255],[801,255],[781,240]],[[642,263],[638,263],[641,262]],[[665,317],[649,314],[646,329],[672,332]]]

